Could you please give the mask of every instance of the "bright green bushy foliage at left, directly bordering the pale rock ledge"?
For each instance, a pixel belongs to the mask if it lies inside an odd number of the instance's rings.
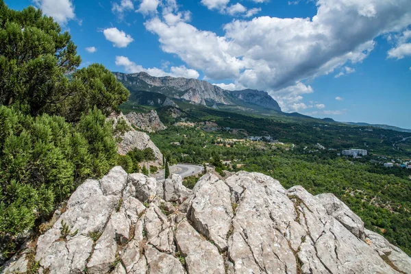
[[[0,106],[0,241],[47,217],[87,177],[114,166],[110,123],[97,109],[78,125],[43,114],[32,118]]]

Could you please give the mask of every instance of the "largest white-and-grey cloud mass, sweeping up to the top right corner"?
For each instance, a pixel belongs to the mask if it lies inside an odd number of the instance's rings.
[[[226,12],[229,1],[201,3]],[[207,79],[266,90],[284,105],[301,103],[291,102],[302,98],[290,88],[298,83],[329,73],[353,73],[353,65],[373,51],[376,37],[408,36],[403,29],[411,23],[409,0],[318,0],[316,7],[312,18],[234,20],[223,25],[221,35],[158,16],[145,27],[158,36],[164,52],[177,55]],[[406,43],[403,40],[397,38],[395,47]]]

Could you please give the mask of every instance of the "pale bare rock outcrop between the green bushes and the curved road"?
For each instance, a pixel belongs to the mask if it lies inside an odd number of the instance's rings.
[[[108,119],[113,121],[113,127],[116,128],[119,121],[124,121],[128,129],[126,132],[120,132],[119,136],[116,136],[119,140],[117,143],[117,151],[121,155],[127,154],[127,152],[132,151],[133,149],[146,149],[147,147],[153,149],[155,160],[158,164],[163,164],[162,162],[162,153],[158,147],[156,147],[151,141],[150,136],[145,132],[138,132],[132,127],[132,124],[128,121],[127,117],[121,114],[112,114]],[[160,122],[161,123],[161,122]]]

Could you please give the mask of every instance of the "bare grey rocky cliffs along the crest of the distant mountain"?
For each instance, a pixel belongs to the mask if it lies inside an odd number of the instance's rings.
[[[207,81],[183,77],[153,77],[147,73],[114,73],[133,93],[133,90],[162,93],[171,98],[184,99],[201,105],[236,105],[242,108],[266,108],[281,112],[281,108],[268,93],[259,90],[224,90]]]

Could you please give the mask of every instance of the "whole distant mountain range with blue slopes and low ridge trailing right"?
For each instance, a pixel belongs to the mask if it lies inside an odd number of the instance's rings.
[[[119,73],[116,78],[129,89],[129,101],[135,105],[149,105],[160,108],[164,106],[177,107],[177,103],[191,103],[219,110],[263,115],[280,115],[303,119],[316,119],[297,112],[282,112],[279,104],[267,92],[262,90],[225,90],[210,82],[183,77],[154,77],[145,72]],[[134,108],[136,108],[134,106]],[[410,133],[411,129],[403,129],[391,125],[336,122],[331,118],[321,119],[329,123],[345,123],[362,127],[377,127],[391,129],[397,132]]]

